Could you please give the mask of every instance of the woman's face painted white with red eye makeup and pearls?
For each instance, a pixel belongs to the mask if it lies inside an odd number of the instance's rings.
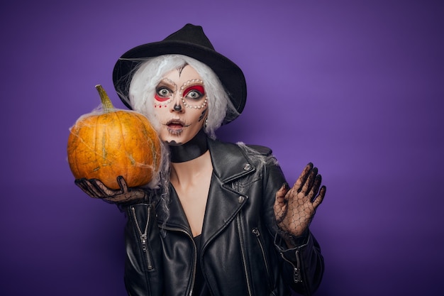
[[[168,72],[157,84],[153,99],[162,141],[182,145],[194,138],[204,126],[206,99],[204,82],[193,67]]]

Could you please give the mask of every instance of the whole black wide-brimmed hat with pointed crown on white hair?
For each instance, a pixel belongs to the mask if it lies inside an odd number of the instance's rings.
[[[187,23],[162,41],[146,43],[128,50],[117,60],[113,69],[114,87],[123,104],[129,109],[132,107],[128,92],[134,70],[146,58],[160,55],[187,55],[213,70],[237,112],[228,112],[222,124],[228,124],[242,113],[247,99],[247,85],[242,70],[228,57],[214,50],[201,26],[191,23]]]

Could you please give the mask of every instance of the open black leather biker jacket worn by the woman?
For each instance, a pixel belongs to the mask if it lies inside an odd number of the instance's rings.
[[[261,156],[209,140],[213,176],[201,234],[201,269],[212,295],[311,295],[323,257],[308,231],[286,249],[276,233],[274,196],[285,182],[268,148]],[[266,160],[262,163],[260,159]],[[131,296],[193,295],[196,246],[172,187],[164,224],[149,203],[126,207],[125,283]],[[162,236],[160,229],[166,234]]]

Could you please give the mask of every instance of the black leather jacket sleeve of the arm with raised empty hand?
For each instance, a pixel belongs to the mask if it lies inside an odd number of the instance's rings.
[[[267,165],[265,165],[264,181],[265,215],[281,259],[284,281],[295,292],[306,296],[312,295],[321,284],[323,276],[324,263],[321,248],[309,229],[298,238],[298,245],[295,248],[287,248],[284,240],[277,233],[274,199],[276,192],[286,181],[277,160],[272,155],[268,156]]]

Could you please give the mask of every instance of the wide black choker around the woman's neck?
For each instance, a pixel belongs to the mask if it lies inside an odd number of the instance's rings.
[[[194,136],[190,141],[183,145],[170,145],[171,162],[184,163],[189,160],[194,160],[206,153],[208,147],[206,146],[206,133],[203,129]]]

